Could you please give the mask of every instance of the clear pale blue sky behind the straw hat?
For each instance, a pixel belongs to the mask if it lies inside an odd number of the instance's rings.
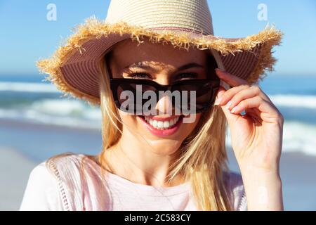
[[[46,20],[48,4],[57,6],[57,20]],[[96,15],[104,19],[110,1],[0,0],[0,75],[36,75],[35,61],[51,56],[75,25]],[[258,20],[265,4],[268,20]],[[256,34],[268,23],[284,32],[275,48],[277,75],[316,76],[316,1],[209,1],[214,32],[220,37]]]

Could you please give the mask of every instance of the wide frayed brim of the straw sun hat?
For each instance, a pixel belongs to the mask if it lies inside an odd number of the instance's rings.
[[[99,105],[100,58],[119,41],[131,38],[142,43],[143,37],[148,37],[153,43],[166,41],[187,50],[196,47],[218,51],[228,72],[249,83],[256,83],[265,72],[273,70],[276,60],[272,57],[272,48],[280,44],[282,32],[275,27],[266,27],[249,37],[227,39],[169,29],[147,30],[124,22],[109,24],[89,18],[74,30],[51,58],[39,60],[37,67],[49,75],[46,80],[55,84],[64,96]]]

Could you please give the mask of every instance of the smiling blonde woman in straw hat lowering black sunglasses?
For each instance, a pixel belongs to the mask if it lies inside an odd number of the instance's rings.
[[[111,1],[38,64],[100,104],[103,150],[41,163],[20,210],[283,210],[283,118],[254,85],[280,37],[213,37],[206,1]],[[225,165],[226,121],[242,176]]]

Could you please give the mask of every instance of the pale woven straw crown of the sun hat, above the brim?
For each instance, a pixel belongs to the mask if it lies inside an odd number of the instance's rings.
[[[206,0],[112,0],[105,21],[125,22],[150,30],[189,30],[213,35]]]

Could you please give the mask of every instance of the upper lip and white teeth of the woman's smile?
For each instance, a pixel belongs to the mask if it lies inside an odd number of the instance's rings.
[[[172,117],[170,120],[154,120],[152,117],[142,116],[138,115],[138,117],[141,117],[147,124],[150,125],[150,127],[158,130],[167,130],[172,129],[173,127],[176,127],[178,123],[180,122],[181,117],[183,115]]]

